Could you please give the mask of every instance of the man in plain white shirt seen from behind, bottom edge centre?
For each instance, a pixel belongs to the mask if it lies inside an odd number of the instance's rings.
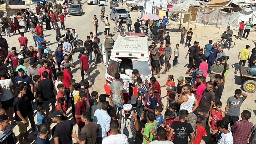
[[[119,124],[116,119],[110,123],[111,134],[102,140],[102,144],[129,144],[125,134],[118,134]]]

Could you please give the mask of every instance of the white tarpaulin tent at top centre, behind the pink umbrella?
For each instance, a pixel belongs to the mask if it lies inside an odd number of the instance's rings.
[[[144,7],[143,10],[141,10],[141,13],[143,15],[147,13],[156,13],[154,11],[154,7],[164,7],[167,8],[167,0],[138,0],[136,1],[137,6]]]

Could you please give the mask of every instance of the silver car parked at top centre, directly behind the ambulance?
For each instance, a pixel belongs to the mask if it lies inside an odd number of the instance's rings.
[[[128,12],[122,7],[112,8],[112,10],[110,11],[110,18],[116,21],[119,18],[119,15],[121,15],[123,22],[126,22]]]

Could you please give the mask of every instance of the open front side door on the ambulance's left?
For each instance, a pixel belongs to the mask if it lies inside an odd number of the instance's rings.
[[[115,40],[112,37],[107,37],[103,39],[102,49],[104,51],[103,53],[104,65],[107,65],[110,59],[110,55],[111,55],[111,51],[114,46],[114,43],[115,43]]]

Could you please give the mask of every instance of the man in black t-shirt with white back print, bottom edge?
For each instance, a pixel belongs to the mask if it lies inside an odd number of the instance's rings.
[[[194,136],[194,133],[193,133],[194,130],[191,124],[186,122],[188,117],[188,111],[181,110],[179,114],[180,114],[180,121],[174,121],[172,123],[168,140],[171,140],[174,132],[175,136],[173,139],[173,143],[187,144],[188,136],[190,135],[189,144],[192,144],[192,142],[195,139],[195,136]]]

